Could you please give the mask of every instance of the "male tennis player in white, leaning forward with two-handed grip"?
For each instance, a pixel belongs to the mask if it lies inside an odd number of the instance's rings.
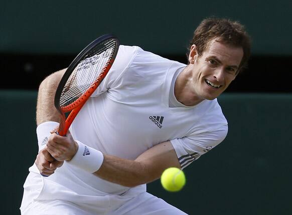
[[[37,104],[39,153],[24,184],[22,214],[186,214],[145,184],[223,141],[227,121],[216,98],[249,55],[243,26],[217,18],[194,32],[188,65],[120,46],[65,137],[54,133],[53,104],[64,70],[47,77]]]

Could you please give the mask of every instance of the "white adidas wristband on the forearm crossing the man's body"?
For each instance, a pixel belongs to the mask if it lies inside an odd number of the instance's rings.
[[[91,148],[78,140],[76,142],[78,144],[78,150],[74,157],[70,161],[67,161],[67,163],[90,173],[97,171],[103,162],[103,154],[101,151]]]

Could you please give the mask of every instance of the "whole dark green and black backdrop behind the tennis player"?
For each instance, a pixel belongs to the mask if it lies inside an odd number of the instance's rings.
[[[228,136],[186,168],[181,192],[169,193],[159,181],[149,191],[189,214],[291,214],[291,11],[290,1],[2,0],[1,214],[20,214],[37,153],[37,89],[47,75],[104,33],[186,63],[193,31],[210,16],[240,21],[252,37],[248,69],[219,98]]]

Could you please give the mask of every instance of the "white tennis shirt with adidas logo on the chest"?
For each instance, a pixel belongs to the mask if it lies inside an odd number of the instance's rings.
[[[108,75],[71,125],[72,136],[104,154],[131,160],[170,140],[185,168],[227,134],[217,99],[185,106],[174,97],[173,80],[185,67],[139,47],[120,46]],[[30,171],[39,173],[35,164]],[[49,177],[28,177],[39,184],[38,199],[76,203],[96,204],[98,196],[130,197],[146,189],[145,184],[129,188],[105,181],[66,162]]]

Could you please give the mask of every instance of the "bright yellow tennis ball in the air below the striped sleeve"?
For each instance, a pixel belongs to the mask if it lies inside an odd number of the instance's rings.
[[[160,180],[162,186],[171,192],[181,190],[186,183],[185,173],[176,167],[164,170]]]

